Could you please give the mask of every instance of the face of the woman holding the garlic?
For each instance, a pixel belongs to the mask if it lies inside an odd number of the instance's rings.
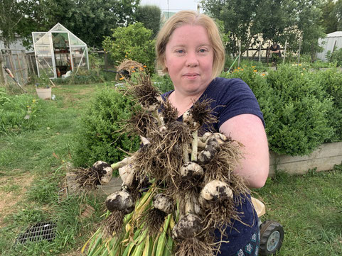
[[[175,90],[184,96],[203,93],[212,80],[213,57],[213,46],[203,26],[176,28],[165,51],[165,66]]]

